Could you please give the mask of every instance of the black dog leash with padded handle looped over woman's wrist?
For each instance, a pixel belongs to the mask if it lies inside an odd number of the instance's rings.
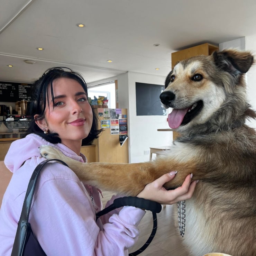
[[[153,202],[144,198],[138,198],[136,196],[125,196],[125,197],[121,197],[121,198],[117,198],[113,201],[113,203],[111,205],[109,205],[109,207],[103,209],[100,212],[96,213],[96,220],[114,210],[117,209],[119,207],[122,206],[134,206],[137,208],[141,208],[141,209],[145,209],[145,210],[149,210],[152,211],[152,215],[153,215],[153,229],[152,232],[148,238],[148,240],[146,241],[146,243],[140,247],[137,251],[133,252],[133,253],[129,253],[129,256],[136,256],[140,253],[142,253],[148,246],[149,244],[152,242],[155,234],[156,234],[156,230],[157,230],[157,217],[156,217],[156,213],[161,212],[162,210],[162,205],[157,203],[157,202]]]

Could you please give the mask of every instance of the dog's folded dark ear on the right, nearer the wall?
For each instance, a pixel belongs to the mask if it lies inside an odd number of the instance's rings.
[[[240,52],[235,49],[215,51],[212,54],[214,63],[221,69],[233,75],[246,73],[254,60],[250,52]]]

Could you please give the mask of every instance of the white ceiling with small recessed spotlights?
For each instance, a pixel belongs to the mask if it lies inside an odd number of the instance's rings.
[[[53,66],[89,83],[127,71],[166,76],[172,52],[255,35],[255,24],[255,0],[1,0],[0,81],[31,82]]]

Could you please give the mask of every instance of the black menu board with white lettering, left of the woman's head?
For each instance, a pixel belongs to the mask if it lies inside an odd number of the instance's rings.
[[[0,81],[0,101],[16,102],[20,100],[31,101],[31,86],[26,83],[11,83]]]

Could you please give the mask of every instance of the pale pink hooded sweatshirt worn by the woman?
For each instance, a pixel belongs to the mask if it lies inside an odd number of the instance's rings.
[[[52,145],[68,157],[87,161],[84,155],[77,156],[65,145],[53,145],[35,134],[11,144],[4,159],[13,175],[0,209],[1,256],[11,254],[30,176],[44,160],[38,151],[40,145]],[[101,208],[97,188],[84,185],[68,167],[50,162],[39,175],[29,222],[47,256],[128,255],[127,248],[138,239],[137,226],[145,211],[124,207],[102,216],[96,223],[95,212]]]

